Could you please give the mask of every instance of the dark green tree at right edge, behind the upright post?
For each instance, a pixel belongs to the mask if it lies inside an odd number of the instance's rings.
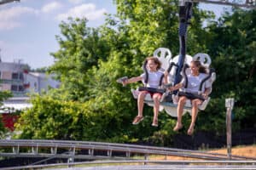
[[[230,97],[236,100],[234,129],[256,126],[253,122],[256,111],[253,104],[256,98],[255,14],[255,10],[234,9],[232,14],[227,12],[207,27],[211,36],[206,45],[209,54],[214,56],[212,62],[217,71],[217,80],[212,93],[215,99],[203,119],[208,118],[208,122],[211,122],[206,129],[224,133],[224,128],[221,130],[225,126],[224,99]]]

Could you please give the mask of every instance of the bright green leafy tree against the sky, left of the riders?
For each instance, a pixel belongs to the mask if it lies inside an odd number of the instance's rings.
[[[86,19],[69,18],[61,22],[61,36],[56,36],[60,49],[52,53],[55,65],[49,72],[55,73],[61,81],[59,99],[84,99],[88,88],[86,72],[99,59],[106,60],[108,46],[102,41],[98,29],[86,26]],[[60,90],[56,94],[60,94]]]

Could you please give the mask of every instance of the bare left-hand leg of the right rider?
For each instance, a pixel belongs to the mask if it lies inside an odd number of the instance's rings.
[[[180,96],[177,103],[177,123],[173,128],[174,131],[178,131],[183,127],[182,118],[183,118],[183,107],[186,103],[187,98],[185,96]]]

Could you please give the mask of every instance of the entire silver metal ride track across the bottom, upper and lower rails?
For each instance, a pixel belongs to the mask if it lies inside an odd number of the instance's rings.
[[[154,147],[137,144],[114,144],[90,141],[68,140],[0,140],[2,157],[41,157],[42,161],[34,162],[27,168],[55,167],[60,165],[75,166],[80,164],[241,164],[242,167],[256,165],[256,157],[231,156],[199,150],[180,150],[166,147]],[[153,156],[149,160],[149,156]],[[178,156],[195,160],[154,160],[154,156]],[[37,165],[55,158],[65,158],[67,163]],[[75,162],[75,159],[84,160]],[[26,167],[3,167],[0,169],[21,169]],[[256,166],[254,166],[256,169]]]

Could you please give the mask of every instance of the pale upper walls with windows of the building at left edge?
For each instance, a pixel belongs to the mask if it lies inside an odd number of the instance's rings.
[[[24,71],[25,65],[20,63],[0,62],[0,90],[10,90],[14,97],[26,96],[30,93],[41,94],[50,88],[58,88],[60,82],[52,75]]]

